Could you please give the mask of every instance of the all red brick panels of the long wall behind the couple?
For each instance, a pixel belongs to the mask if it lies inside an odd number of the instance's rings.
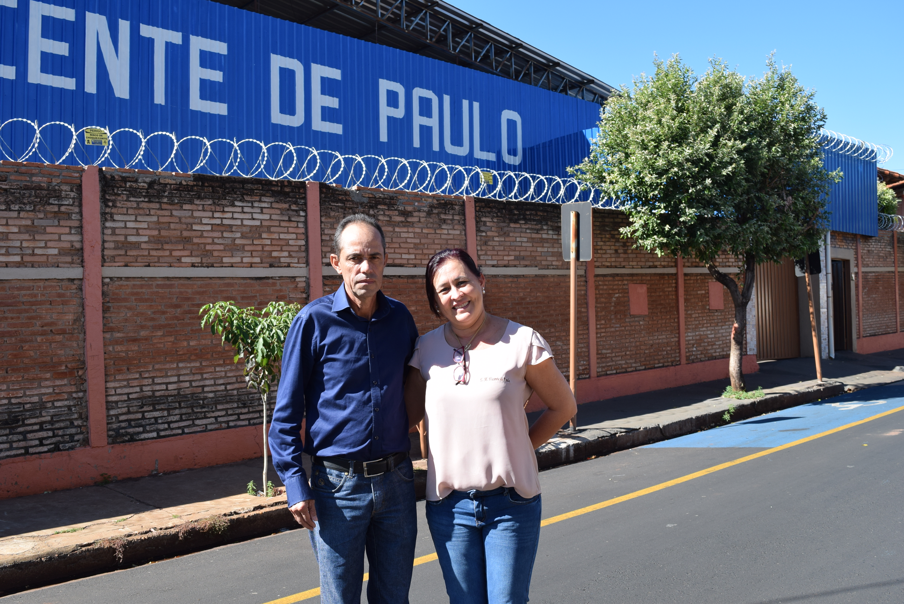
[[[77,167],[0,165],[0,270],[7,271],[0,279],[0,458],[88,444],[81,281],[60,272],[81,266],[81,175]],[[216,300],[255,307],[308,301],[306,277],[264,274],[308,268],[306,184],[105,169],[100,187],[109,442],[259,425],[257,395],[245,388],[231,349],[201,329],[198,310]],[[423,269],[435,251],[467,247],[464,200],[321,184],[323,255],[316,262],[327,267],[325,293],[340,283],[328,268],[335,225],[353,212],[371,213],[386,231],[387,295],[410,308],[421,333],[439,326]],[[620,212],[594,212],[594,265],[607,271],[594,279],[601,376],[680,362],[675,260],[634,250],[619,236],[625,224]],[[476,234],[487,307],[541,333],[567,376],[569,264],[561,257],[560,207],[477,199]],[[868,267],[889,263],[872,246],[889,247],[888,234],[862,238],[862,254]],[[692,261],[684,266],[702,269]],[[736,263],[720,259],[720,266]],[[45,272],[9,278],[8,269]],[[125,269],[145,272],[116,272]],[[261,276],[174,276],[177,269],[259,269]],[[880,280],[889,275],[864,278],[864,322],[876,333],[889,329],[887,309],[871,310],[890,306]],[[729,353],[731,301],[723,292],[724,308],[711,309],[711,281],[706,273],[684,275],[688,363]],[[577,371],[585,378],[591,368],[583,275],[578,283]],[[629,286],[638,284],[646,286],[646,315],[630,313]]]

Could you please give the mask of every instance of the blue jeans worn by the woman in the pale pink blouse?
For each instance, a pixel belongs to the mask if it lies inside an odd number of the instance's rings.
[[[513,488],[452,491],[427,502],[427,524],[455,604],[523,604],[540,542],[541,499]]]

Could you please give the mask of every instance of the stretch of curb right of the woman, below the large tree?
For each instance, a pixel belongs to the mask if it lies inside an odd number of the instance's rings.
[[[845,392],[842,382],[823,382],[802,390],[776,392],[760,399],[731,401],[735,411],[731,421],[747,420],[764,413],[796,407],[806,402],[819,401]],[[714,399],[714,411],[665,424],[653,424],[637,429],[582,429],[578,434],[551,439],[537,449],[537,466],[541,469],[564,466],[585,459],[615,453],[627,448],[641,447],[661,440],[674,439],[704,429],[715,428],[728,422],[722,414],[728,409],[729,399]]]

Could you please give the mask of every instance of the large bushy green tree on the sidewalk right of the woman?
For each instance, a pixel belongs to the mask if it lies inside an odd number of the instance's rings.
[[[741,355],[755,270],[819,248],[830,182],[820,153],[825,113],[767,59],[745,78],[712,59],[698,78],[678,55],[607,100],[590,156],[572,173],[619,200],[635,246],[702,262],[734,303],[730,379]],[[739,273],[720,267],[734,258]]]

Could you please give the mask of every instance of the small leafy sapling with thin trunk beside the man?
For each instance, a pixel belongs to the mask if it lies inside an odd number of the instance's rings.
[[[270,302],[259,311],[254,307],[237,307],[230,300],[204,305],[198,313],[202,315],[201,327],[210,326],[213,335],[222,336],[221,344],[230,344],[236,351],[232,362],[244,361],[242,373],[245,382],[251,390],[259,393],[263,403],[264,473],[261,489],[265,495],[271,495],[267,480],[267,397],[270,387],[279,382],[286,334],[299,310],[299,304]]]

